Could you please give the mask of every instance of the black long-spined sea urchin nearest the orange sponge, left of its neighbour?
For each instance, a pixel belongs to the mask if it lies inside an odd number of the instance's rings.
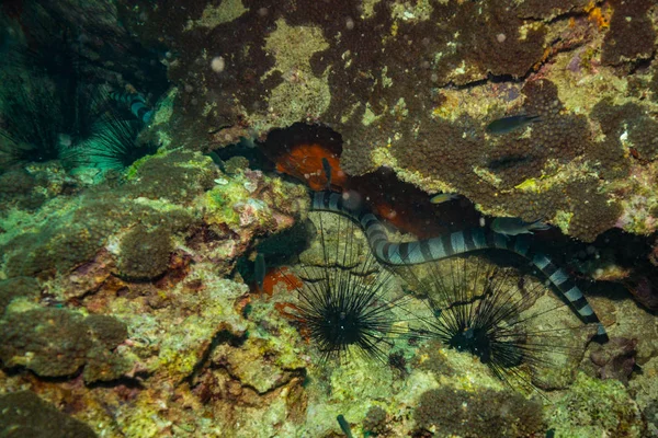
[[[343,360],[350,353],[386,362],[385,346],[401,332],[390,299],[393,278],[370,252],[361,231],[343,218],[328,231],[319,216],[319,258],[300,268],[299,302],[291,318],[319,350],[321,360]],[[293,281],[288,281],[293,284]]]

